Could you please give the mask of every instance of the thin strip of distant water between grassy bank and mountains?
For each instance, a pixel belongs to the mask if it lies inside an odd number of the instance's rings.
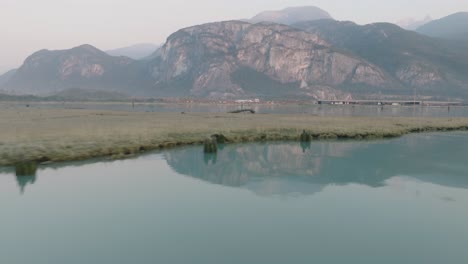
[[[24,108],[26,103],[0,102],[2,107]],[[309,114],[318,116],[415,116],[415,117],[468,117],[468,107],[421,107],[421,106],[352,106],[352,105],[216,105],[216,104],[132,104],[124,103],[30,103],[35,109],[94,109],[134,112],[208,112],[226,113],[242,107],[252,108],[257,113]]]

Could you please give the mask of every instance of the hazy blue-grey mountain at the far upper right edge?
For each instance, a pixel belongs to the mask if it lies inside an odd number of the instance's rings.
[[[427,23],[417,32],[437,38],[468,40],[468,12],[456,13]]]

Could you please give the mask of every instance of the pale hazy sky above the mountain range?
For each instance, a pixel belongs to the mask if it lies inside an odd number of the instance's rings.
[[[468,11],[467,0],[0,0],[0,73],[43,48],[162,43],[182,27],[303,5],[359,24]]]

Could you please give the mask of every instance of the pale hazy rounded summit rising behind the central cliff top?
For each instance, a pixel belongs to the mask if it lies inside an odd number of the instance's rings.
[[[248,22],[272,22],[278,24],[291,25],[301,21],[311,21],[319,19],[333,19],[330,14],[315,6],[288,7],[279,11],[264,11]]]

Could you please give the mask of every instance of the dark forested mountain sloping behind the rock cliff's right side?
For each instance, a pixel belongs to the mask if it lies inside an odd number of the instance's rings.
[[[468,95],[468,49],[463,43],[430,38],[388,23],[360,26],[319,20],[294,27],[379,66],[397,81],[402,93],[417,89],[425,95]]]

